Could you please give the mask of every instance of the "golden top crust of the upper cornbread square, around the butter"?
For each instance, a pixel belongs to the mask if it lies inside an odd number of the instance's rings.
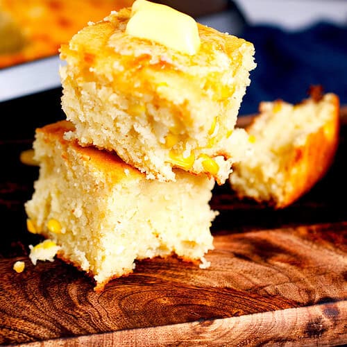
[[[253,49],[253,44],[244,39],[198,24],[200,49],[193,55],[181,53],[158,42],[128,35],[125,30],[130,13],[131,8],[113,11],[103,21],[86,26],[72,37],[69,45],[62,45],[62,58],[73,56],[85,65],[94,65],[105,70],[109,67],[108,62],[113,64],[118,60],[122,65],[137,69],[146,65],[158,69],[175,67],[182,70],[195,66],[218,71],[226,69],[225,64],[228,63],[221,58],[239,62],[239,49],[242,45]],[[134,60],[134,57],[138,59]]]

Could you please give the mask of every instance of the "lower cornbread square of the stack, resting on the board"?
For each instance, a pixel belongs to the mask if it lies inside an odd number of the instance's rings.
[[[25,205],[28,228],[60,247],[58,257],[102,289],[133,271],[134,260],[176,253],[206,265],[212,246],[214,180],[176,172],[176,183],[147,180],[117,155],[64,139],[68,121],[37,129],[40,177]]]

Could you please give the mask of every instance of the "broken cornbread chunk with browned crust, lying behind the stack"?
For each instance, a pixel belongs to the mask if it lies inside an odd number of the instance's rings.
[[[285,208],[320,180],[339,141],[339,99],[335,94],[260,103],[247,128],[253,155],[235,165],[230,183],[240,197]]]

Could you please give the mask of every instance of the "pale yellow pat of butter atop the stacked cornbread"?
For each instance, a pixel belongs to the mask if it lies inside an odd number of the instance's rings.
[[[133,3],[126,33],[189,55],[195,54],[200,47],[198,26],[192,17],[146,0]]]

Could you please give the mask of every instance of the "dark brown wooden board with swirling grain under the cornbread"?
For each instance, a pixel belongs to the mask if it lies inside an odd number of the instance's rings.
[[[102,293],[60,260],[28,260],[23,203],[37,168],[19,162],[24,130],[0,130],[0,344],[29,346],[254,346],[347,342],[347,117],[328,174],[289,208],[214,189],[209,269],[171,257],[137,262]],[[240,119],[247,123],[249,118]],[[47,119],[31,119],[30,131]],[[13,134],[12,134],[13,135]],[[24,273],[13,264],[22,260]]]

